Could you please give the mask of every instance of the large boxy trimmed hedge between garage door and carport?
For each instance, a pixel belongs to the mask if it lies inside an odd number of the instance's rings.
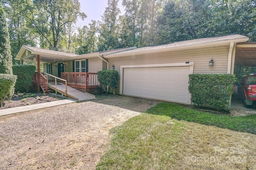
[[[228,109],[234,82],[234,74],[190,74],[191,102],[196,106],[208,104],[217,110]]]

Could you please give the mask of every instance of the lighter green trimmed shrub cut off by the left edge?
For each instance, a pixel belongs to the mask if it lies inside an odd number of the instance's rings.
[[[4,99],[12,97],[17,76],[12,74],[0,74],[0,107]]]

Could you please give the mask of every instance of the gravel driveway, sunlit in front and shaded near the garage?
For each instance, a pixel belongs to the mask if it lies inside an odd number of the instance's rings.
[[[95,169],[109,129],[158,101],[128,96],[0,117],[0,169]]]

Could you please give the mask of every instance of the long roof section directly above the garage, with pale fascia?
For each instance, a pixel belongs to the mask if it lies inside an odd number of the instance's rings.
[[[213,46],[223,46],[229,45],[230,42],[245,42],[248,41],[249,38],[239,34],[230,34],[230,35],[222,35],[217,37],[208,37],[208,38],[200,38],[200,39],[191,39],[186,41],[178,41],[170,44],[164,45],[156,45],[151,47],[142,47],[129,51],[122,51],[114,54],[110,54],[104,56],[105,58],[114,58],[114,57],[125,57],[132,54],[140,55],[146,53],[152,53],[157,51],[178,51],[185,49],[195,49],[202,47],[213,47]]]

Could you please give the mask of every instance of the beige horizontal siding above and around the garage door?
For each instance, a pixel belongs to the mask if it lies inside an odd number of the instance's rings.
[[[120,74],[120,66],[143,65],[143,64],[165,64],[165,63],[185,63],[194,62],[194,73],[198,74],[226,74],[228,69],[228,50],[225,47],[210,47],[203,49],[192,49],[184,51],[172,51],[165,53],[152,53],[146,55],[110,58],[109,69],[112,64]],[[214,66],[208,66],[213,58]],[[118,82],[120,84],[120,81]],[[116,91],[119,93],[119,85]]]

